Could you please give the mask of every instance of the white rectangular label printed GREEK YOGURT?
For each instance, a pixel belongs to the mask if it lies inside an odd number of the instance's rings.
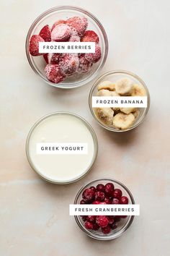
[[[37,143],[37,155],[86,155],[87,143]]]

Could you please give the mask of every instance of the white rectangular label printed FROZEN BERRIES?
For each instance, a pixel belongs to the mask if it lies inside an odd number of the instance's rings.
[[[86,54],[95,53],[94,42],[39,42],[39,53]]]

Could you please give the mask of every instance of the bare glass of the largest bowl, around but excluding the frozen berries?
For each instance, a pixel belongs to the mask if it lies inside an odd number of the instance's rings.
[[[91,71],[84,73],[84,74],[75,74],[71,77],[66,78],[63,82],[55,84],[53,82],[48,81],[45,77],[45,61],[43,56],[33,57],[30,55],[28,51],[30,38],[34,34],[39,34],[40,30],[45,25],[52,26],[56,20],[66,20],[69,17],[73,16],[84,16],[88,19],[89,25],[87,27],[88,30],[94,30],[99,35],[99,43],[102,51],[101,59],[92,66]],[[27,59],[30,63],[30,66],[34,70],[34,72],[39,75],[43,81],[47,82],[48,85],[52,85],[56,88],[78,88],[81,85],[86,84],[94,79],[94,77],[99,74],[99,71],[104,66],[104,63],[107,59],[108,53],[108,40],[107,34],[104,30],[102,24],[94,17],[93,14],[86,11],[85,9],[81,9],[79,7],[72,7],[72,6],[61,6],[61,7],[54,7],[52,9],[48,9],[48,11],[43,12],[37,19],[32,23],[30,30],[27,33],[26,39],[26,54]]]

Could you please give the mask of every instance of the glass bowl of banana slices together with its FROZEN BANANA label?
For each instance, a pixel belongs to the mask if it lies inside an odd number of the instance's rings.
[[[150,95],[145,82],[124,70],[103,74],[89,93],[91,114],[102,127],[113,132],[138,127],[149,107]]]

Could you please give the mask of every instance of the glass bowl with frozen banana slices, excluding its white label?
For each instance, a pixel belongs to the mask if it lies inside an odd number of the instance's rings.
[[[93,96],[147,96],[146,108],[94,108]],[[133,98],[132,98],[133,99]],[[105,129],[113,132],[127,132],[138,127],[148,114],[150,95],[145,82],[136,74],[125,70],[115,70],[103,74],[91,88],[89,108],[91,114]]]

